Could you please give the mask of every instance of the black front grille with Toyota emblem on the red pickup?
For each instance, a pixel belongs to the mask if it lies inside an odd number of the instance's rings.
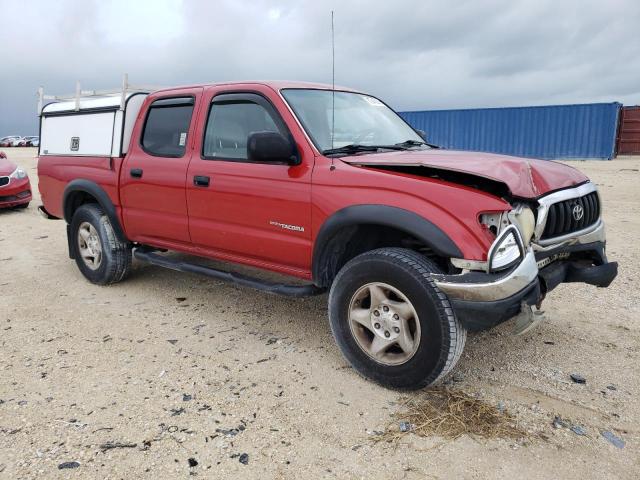
[[[574,215],[574,211],[579,211],[580,208],[583,215],[576,220],[578,215]],[[554,203],[549,205],[547,223],[541,238],[546,240],[583,230],[596,223],[598,218],[600,218],[600,200],[596,192]]]

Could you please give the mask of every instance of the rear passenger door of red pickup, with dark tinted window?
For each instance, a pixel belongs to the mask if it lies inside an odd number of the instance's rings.
[[[193,154],[195,107],[202,88],[151,95],[120,172],[120,201],[129,239],[189,244],[185,183]]]

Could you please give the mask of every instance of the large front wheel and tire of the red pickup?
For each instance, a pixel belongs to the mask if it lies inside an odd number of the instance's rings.
[[[381,248],[355,257],[336,276],[329,293],[331,331],[362,376],[384,387],[417,390],[441,380],[460,359],[467,331],[430,273],[440,269],[419,253]],[[374,355],[380,344],[391,346]]]

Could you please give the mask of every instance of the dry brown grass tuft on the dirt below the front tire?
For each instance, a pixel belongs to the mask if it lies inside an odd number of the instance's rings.
[[[404,406],[406,411],[394,415],[396,421],[381,440],[398,440],[410,432],[447,439],[470,435],[515,440],[526,436],[508,412],[459,390],[431,388],[409,399]],[[401,424],[407,431],[401,430]]]

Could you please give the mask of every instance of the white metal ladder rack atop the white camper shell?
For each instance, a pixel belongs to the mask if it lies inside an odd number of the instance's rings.
[[[82,90],[80,88],[80,81],[77,81],[75,93],[65,95],[45,95],[44,87],[40,87],[38,88],[38,116],[42,115],[43,113],[45,100],[53,100],[54,102],[65,102],[65,110],[72,109],[75,111],[79,111],[83,107],[83,100],[108,99],[110,100],[110,102],[108,102],[109,105],[119,105],[120,110],[124,110],[127,98],[132,94],[148,94],[153,91],[160,90],[161,88],[163,87],[153,85],[130,85],[129,75],[126,73],[122,76],[122,86],[120,88],[111,90]],[[119,99],[118,104],[114,103],[116,99]],[[73,104],[71,104],[71,101],[73,101]],[[73,108],[68,108],[69,106],[72,106]]]

